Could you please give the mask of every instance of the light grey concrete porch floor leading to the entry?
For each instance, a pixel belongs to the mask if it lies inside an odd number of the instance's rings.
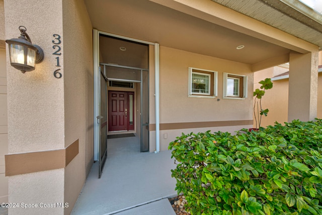
[[[166,202],[158,200],[177,195],[170,171],[175,167],[171,151],[140,153],[138,137],[108,139],[102,177],[98,178],[96,162],[71,214],[131,214],[134,210],[135,214],[152,214],[148,212],[155,204],[152,202]],[[144,211],[137,212],[139,208]]]

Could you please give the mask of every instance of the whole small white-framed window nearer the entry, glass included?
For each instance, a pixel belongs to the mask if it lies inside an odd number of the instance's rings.
[[[188,97],[217,96],[217,72],[189,67]]]

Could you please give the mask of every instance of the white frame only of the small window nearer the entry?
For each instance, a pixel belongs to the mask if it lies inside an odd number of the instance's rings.
[[[197,70],[197,71],[194,71]],[[213,73],[213,80],[211,80],[211,75],[208,73],[202,73],[202,71],[205,72],[212,72]],[[218,79],[218,72],[207,70],[207,69],[199,69],[199,68],[193,68],[188,67],[188,97],[197,97],[197,98],[215,98],[217,96],[217,79]],[[192,92],[192,74],[201,74],[201,75],[208,75],[209,76],[209,93],[202,93],[202,92]],[[213,82],[213,85],[211,85],[211,82]],[[211,88],[213,87],[213,95],[210,95]]]

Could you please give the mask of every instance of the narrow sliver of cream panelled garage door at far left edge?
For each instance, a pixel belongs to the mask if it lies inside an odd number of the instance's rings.
[[[8,110],[6,49],[0,46],[0,202],[8,202],[8,177],[5,155],[8,154]]]

